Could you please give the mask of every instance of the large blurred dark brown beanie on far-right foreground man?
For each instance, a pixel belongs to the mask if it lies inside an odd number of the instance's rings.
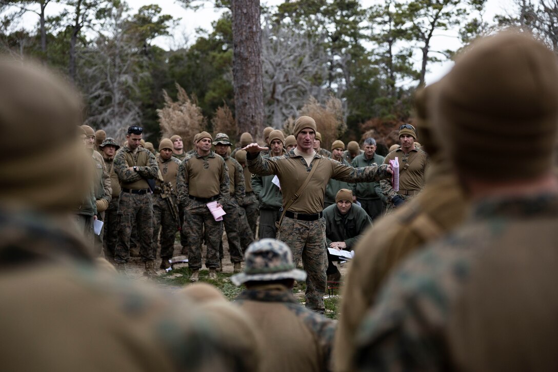
[[[556,82],[556,55],[529,35],[508,31],[474,42],[436,95],[433,124],[456,168],[500,182],[547,173],[558,129]]]

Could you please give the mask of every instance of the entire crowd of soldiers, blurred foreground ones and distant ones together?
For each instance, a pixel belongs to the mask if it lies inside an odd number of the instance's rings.
[[[373,138],[323,149],[308,116],[264,146],[201,132],[155,151],[140,126],[76,139],[74,88],[0,61],[3,368],[558,370],[557,82],[545,45],[501,32],[416,94],[386,156]],[[204,242],[218,278],[227,237],[234,302],[123,275],[132,245],[145,275],[157,256],[169,269],[177,234],[191,282]],[[333,321],[340,250],[355,253]]]

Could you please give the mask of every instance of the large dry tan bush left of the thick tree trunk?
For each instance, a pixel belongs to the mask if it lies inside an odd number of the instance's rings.
[[[163,138],[179,135],[184,141],[184,147],[191,149],[194,136],[205,129],[207,120],[195,97],[190,99],[179,84],[176,84],[176,89],[177,101],[173,101],[166,90],[163,90],[165,107],[157,110],[159,125]]]

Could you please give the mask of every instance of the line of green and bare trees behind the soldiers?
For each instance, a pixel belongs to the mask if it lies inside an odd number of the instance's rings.
[[[385,0],[368,8],[357,0],[286,0],[259,8],[263,122],[256,125],[235,108],[235,83],[243,82],[234,65],[241,56],[234,53],[233,45],[240,47],[233,29],[238,34],[246,24],[235,22],[242,12],[234,8],[259,7],[258,1],[215,0],[225,12],[211,30],[163,50],[153,40],[171,35],[177,20],[156,4],[133,13],[118,0],[0,0],[0,52],[38,59],[67,75],[83,93],[86,123],[119,140],[129,125],[143,126],[154,143],[176,133],[189,146],[201,130],[237,140],[248,130],[261,139],[263,126],[290,134],[297,116],[310,115],[323,147],[367,136],[390,146],[395,128],[412,121],[413,93],[431,65],[457,52],[435,49],[433,36],[459,30],[466,45],[516,26],[558,52],[558,0],[512,1],[506,14],[490,20],[486,0]],[[53,3],[62,10],[47,16]],[[28,12],[37,15],[31,30],[22,25]]]

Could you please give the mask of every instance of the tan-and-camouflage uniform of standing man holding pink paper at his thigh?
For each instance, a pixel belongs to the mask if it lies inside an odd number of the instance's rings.
[[[195,162],[203,163],[204,169],[210,169],[209,161],[216,158],[213,151],[207,156],[200,156],[198,152],[187,155],[180,163],[179,171],[176,179],[176,191],[180,206],[184,208],[184,226],[182,230],[186,232],[189,242],[188,267],[193,270],[201,268],[201,240],[203,239],[203,228],[205,228],[205,236],[207,242],[207,255],[205,257],[205,266],[210,269],[219,267],[219,244],[223,235],[223,222],[215,221],[209,208],[206,206],[207,201],[200,201],[194,195],[190,194],[190,183],[198,183],[196,178],[199,174],[193,173],[192,164]],[[219,166],[214,169],[217,172],[218,185],[210,185],[213,188],[218,187],[219,193],[215,195],[215,201],[225,205],[229,198],[229,175],[227,165],[220,156],[217,156]],[[199,164],[198,164],[199,165]],[[203,185],[198,185],[203,188]],[[206,185],[209,187],[209,185]]]

